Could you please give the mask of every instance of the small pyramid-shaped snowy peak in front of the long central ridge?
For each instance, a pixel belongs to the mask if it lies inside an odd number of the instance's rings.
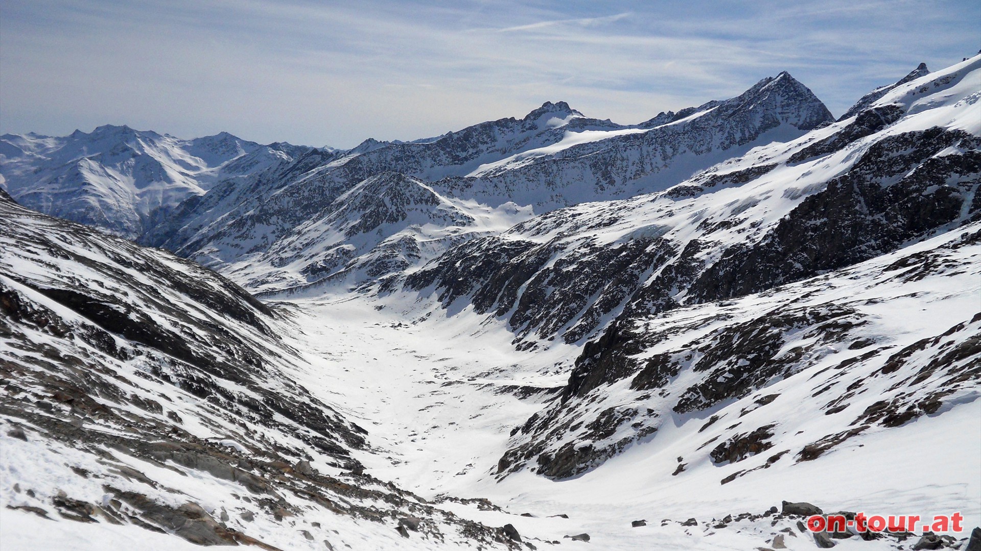
[[[323,218],[290,230],[262,255],[224,266],[260,296],[288,290],[310,295],[325,286],[378,285],[390,291],[400,275],[476,235],[496,234],[528,219],[513,203],[490,209],[439,195],[401,173],[382,173],[337,197]],[[274,270],[271,271],[270,267]]]

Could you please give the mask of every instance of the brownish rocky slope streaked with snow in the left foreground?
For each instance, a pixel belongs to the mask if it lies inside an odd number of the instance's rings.
[[[8,511],[202,545],[513,546],[363,472],[365,430],[290,376],[283,310],[3,192],[0,252]]]

